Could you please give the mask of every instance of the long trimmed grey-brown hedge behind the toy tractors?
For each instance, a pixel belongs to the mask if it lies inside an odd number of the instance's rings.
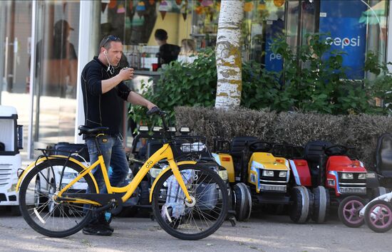
[[[177,127],[188,126],[205,135],[212,145],[215,137],[232,140],[256,136],[268,142],[306,145],[311,140],[355,147],[352,154],[367,168],[374,164],[378,137],[392,132],[392,117],[382,115],[327,115],[269,110],[218,110],[212,107],[176,107]]]

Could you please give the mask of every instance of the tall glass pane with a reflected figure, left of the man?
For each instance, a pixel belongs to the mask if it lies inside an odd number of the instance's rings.
[[[33,141],[46,147],[74,140],[79,2],[36,3]]]

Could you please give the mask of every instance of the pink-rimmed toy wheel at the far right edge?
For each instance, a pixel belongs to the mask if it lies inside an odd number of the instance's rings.
[[[369,229],[384,233],[392,228],[392,204],[377,199],[366,206],[365,222]]]

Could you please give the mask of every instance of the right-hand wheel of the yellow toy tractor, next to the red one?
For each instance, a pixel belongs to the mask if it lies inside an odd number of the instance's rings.
[[[303,224],[310,219],[313,194],[306,187],[294,187],[291,196],[292,204],[289,206],[289,216],[294,223]]]

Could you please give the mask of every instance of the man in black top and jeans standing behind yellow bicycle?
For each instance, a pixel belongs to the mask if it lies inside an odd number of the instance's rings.
[[[100,151],[105,166],[112,167],[110,184],[119,187],[128,175],[128,162],[125,157],[122,138],[119,134],[122,101],[135,105],[143,105],[150,110],[156,107],[149,100],[131,91],[123,80],[133,78],[133,68],[118,69],[123,55],[123,43],[120,38],[110,35],[100,42],[99,56],[94,57],[81,74],[83,106],[88,127],[109,127],[105,135],[98,137]],[[91,163],[96,162],[98,154],[94,140],[86,139]],[[100,169],[93,171],[100,191],[105,191],[105,184]],[[89,191],[89,189],[88,189]],[[94,214],[93,219],[83,233],[99,236],[110,236],[113,229],[105,221],[104,213]]]

